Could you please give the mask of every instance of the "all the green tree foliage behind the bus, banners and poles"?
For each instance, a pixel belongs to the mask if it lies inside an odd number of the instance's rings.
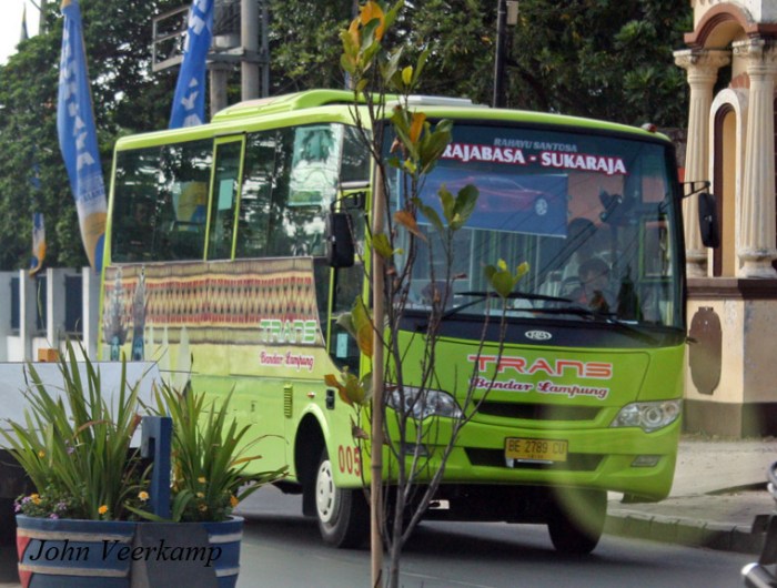
[[[268,0],[271,92],[343,88],[340,40],[354,0]],[[103,172],[128,133],[168,124],[176,71],[151,72],[151,18],[189,0],[80,0]],[[508,28],[506,102],[664,128],[686,124],[687,84],[672,50],[692,30],[674,0],[521,0]],[[496,0],[408,0],[397,33],[431,50],[421,91],[492,103]],[[61,16],[0,65],[0,270],[28,265],[31,215],[46,215],[51,266],[87,263],[75,206],[57,142]],[[234,80],[239,80],[233,77]],[[238,100],[239,91],[230,92]]]

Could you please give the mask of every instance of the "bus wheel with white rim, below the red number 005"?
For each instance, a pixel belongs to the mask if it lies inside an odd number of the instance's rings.
[[[315,473],[315,515],[324,543],[332,547],[359,547],[370,531],[370,509],[362,490],[337,488],[326,449]]]

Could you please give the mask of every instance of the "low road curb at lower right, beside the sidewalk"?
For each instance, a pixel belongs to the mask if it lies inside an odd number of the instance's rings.
[[[760,554],[765,534],[753,526],[706,523],[644,513],[612,513],[604,531],[619,537],[706,547],[738,554]]]

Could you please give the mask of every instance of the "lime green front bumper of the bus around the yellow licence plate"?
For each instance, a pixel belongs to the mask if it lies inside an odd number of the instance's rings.
[[[443,485],[599,489],[624,493],[632,501],[657,501],[672,488],[679,433],[679,422],[653,433],[625,427],[531,429],[468,423],[447,459]],[[522,446],[527,445],[535,450],[522,454]],[[413,446],[406,449],[412,452]],[[442,450],[441,445],[420,446],[417,463],[426,464],[420,484],[440,466]],[[387,460],[386,453],[384,464]],[[384,475],[391,477],[391,470]]]

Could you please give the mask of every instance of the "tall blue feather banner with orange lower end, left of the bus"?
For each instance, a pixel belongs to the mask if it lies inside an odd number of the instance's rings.
[[[102,268],[105,236],[105,184],[102,180],[92,98],[78,0],[63,0],[57,131],[75,199],[81,240],[95,272]]]

